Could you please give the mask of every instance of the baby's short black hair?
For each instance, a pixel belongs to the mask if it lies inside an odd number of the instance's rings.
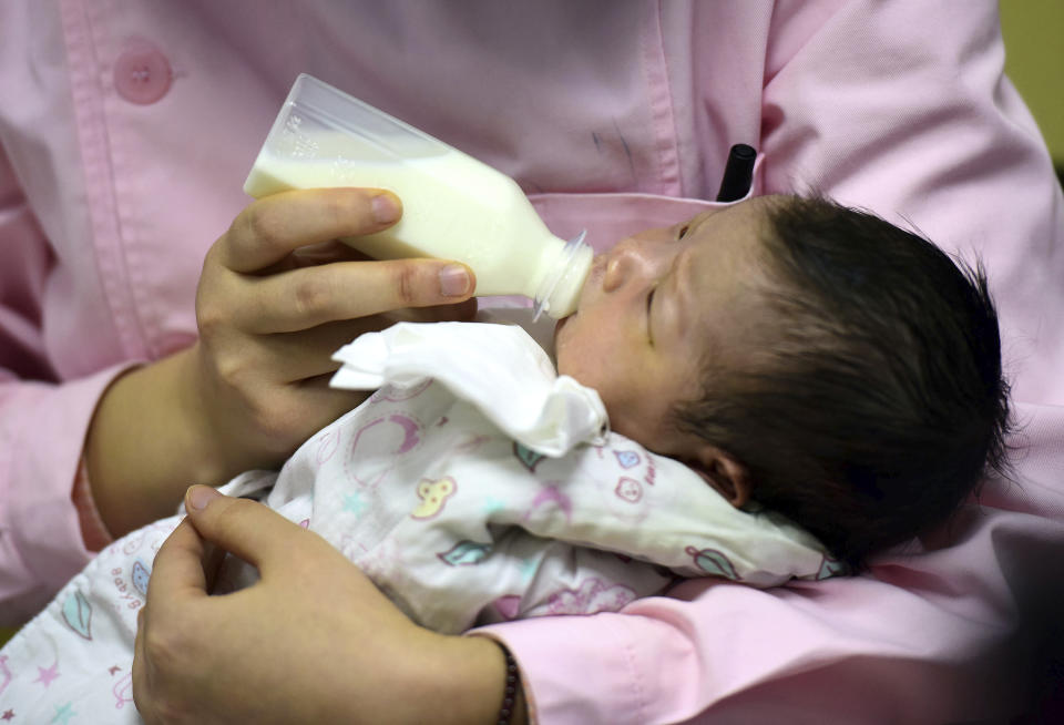
[[[767,206],[766,347],[753,365],[710,356],[676,419],[860,568],[1005,469],[998,315],[982,267],[917,234],[820,197]]]

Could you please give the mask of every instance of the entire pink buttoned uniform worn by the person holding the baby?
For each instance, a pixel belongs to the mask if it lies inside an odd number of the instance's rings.
[[[1007,712],[1019,624],[1060,609],[1064,203],[1002,59],[991,0],[0,3],[0,620],[90,555],[70,499],[93,406],[194,339],[203,254],[306,71],[511,174],[600,247],[713,198],[746,142],[759,192],[818,188],[990,269],[1027,423],[1019,484],[990,483],[952,545],[859,579],[690,583],[492,630],[540,722]]]

